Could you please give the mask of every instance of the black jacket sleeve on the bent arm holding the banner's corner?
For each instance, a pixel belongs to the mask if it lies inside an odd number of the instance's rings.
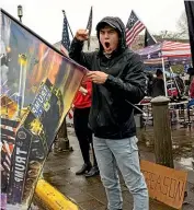
[[[109,75],[104,85],[126,101],[138,104],[146,93],[146,75],[139,56],[133,55],[122,78]]]

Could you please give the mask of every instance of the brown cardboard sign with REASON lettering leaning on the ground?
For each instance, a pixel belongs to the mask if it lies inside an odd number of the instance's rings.
[[[170,207],[181,209],[187,173],[172,170],[148,161],[140,161],[149,196]]]

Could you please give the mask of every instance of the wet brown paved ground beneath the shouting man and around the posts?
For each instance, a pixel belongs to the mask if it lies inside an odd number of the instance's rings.
[[[183,168],[189,171],[187,177],[187,197],[185,203],[183,205],[183,210],[194,210],[194,171],[192,170],[192,145],[193,137],[184,140],[184,132],[181,135],[179,130],[179,136],[183,135],[183,140],[180,140],[181,147],[179,149],[174,148],[175,158],[175,168]],[[187,133],[187,132],[186,132]],[[192,135],[193,132],[191,132]],[[148,139],[151,138],[151,130],[141,130],[138,132],[139,136],[139,150],[140,156],[144,160],[155,161],[153,149],[146,147]],[[147,137],[146,137],[147,136]],[[174,135],[175,137],[176,135]],[[192,135],[193,136],[193,135]],[[73,133],[73,128],[68,128],[68,137],[70,145],[73,148],[73,152],[65,152],[49,154],[47,162],[44,166],[44,178],[55,186],[60,192],[66,197],[78,203],[80,210],[104,210],[106,208],[106,196],[104,188],[102,186],[100,176],[85,178],[84,176],[76,176],[76,171],[82,165],[82,158],[79,150],[78,141]],[[146,137],[146,138],[145,138]],[[174,141],[173,145],[176,145]],[[183,143],[183,144],[182,144]],[[185,145],[184,156],[180,155],[182,153],[182,145]],[[176,152],[176,150],[179,152]],[[133,198],[128,192],[123,178],[121,176],[122,192],[124,198],[123,210],[133,209]],[[150,210],[172,210],[172,208],[167,207],[157,201],[150,200]]]

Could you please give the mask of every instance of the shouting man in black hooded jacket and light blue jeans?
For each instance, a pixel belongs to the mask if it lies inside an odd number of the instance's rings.
[[[146,89],[139,56],[126,47],[125,26],[118,18],[104,18],[96,25],[99,51],[83,52],[88,32],[79,30],[69,56],[90,71],[93,83],[89,126],[109,210],[121,210],[122,190],[117,165],[134,197],[135,210],[148,210],[148,190],[140,172],[134,108]],[[129,102],[129,103],[128,103]]]

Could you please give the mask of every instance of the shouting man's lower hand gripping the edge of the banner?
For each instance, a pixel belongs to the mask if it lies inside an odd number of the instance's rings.
[[[88,79],[95,84],[104,84],[107,75],[107,73],[104,73],[102,71],[90,71],[89,73],[87,73]]]

